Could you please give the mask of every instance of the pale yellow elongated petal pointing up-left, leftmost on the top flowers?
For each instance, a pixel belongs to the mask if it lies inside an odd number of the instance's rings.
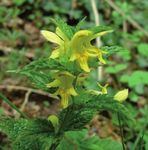
[[[63,41],[53,32],[42,30],[41,34],[44,38],[52,43],[56,43],[58,45],[63,44]]]

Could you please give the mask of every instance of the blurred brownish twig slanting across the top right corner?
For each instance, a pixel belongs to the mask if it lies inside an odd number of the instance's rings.
[[[136,29],[143,32],[148,37],[148,32],[144,30],[131,16],[126,15],[112,0],[105,0],[114,10],[116,10],[121,16],[125,17]]]

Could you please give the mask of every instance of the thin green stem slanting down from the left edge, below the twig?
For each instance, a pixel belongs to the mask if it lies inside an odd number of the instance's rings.
[[[12,107],[13,109],[15,109],[22,117],[24,118],[28,118],[28,116],[26,114],[24,114],[23,112],[21,112],[7,97],[5,97],[2,93],[0,93],[0,98],[6,102],[10,107]]]

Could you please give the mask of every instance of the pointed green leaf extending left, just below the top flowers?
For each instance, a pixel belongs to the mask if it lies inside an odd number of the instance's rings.
[[[27,76],[37,88],[48,91],[46,84],[51,82],[50,71],[53,69],[63,70],[64,66],[56,60],[43,58],[31,62],[16,73]]]

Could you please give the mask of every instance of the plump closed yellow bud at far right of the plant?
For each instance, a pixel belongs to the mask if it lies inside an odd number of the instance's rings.
[[[122,103],[127,99],[127,97],[128,97],[128,89],[124,89],[116,93],[114,99]]]

